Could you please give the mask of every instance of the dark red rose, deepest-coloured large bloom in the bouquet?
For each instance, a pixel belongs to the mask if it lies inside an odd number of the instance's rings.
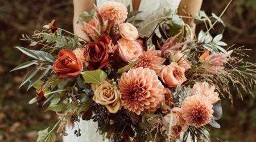
[[[109,63],[109,46],[112,41],[109,36],[102,35],[97,42],[88,43],[85,48],[84,56],[85,59],[89,55],[89,66],[90,70],[102,69],[106,64]]]

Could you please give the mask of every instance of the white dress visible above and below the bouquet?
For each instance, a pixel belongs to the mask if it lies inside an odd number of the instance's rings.
[[[97,7],[100,7],[101,4],[106,1],[110,1],[110,0],[97,0]],[[121,2],[125,6],[130,5],[130,11],[133,10],[132,0],[112,0],[112,1]],[[137,24],[137,26],[142,27],[145,24],[151,22],[152,20],[163,17],[164,15],[163,9],[165,9],[167,16],[170,14],[174,14],[177,8],[179,7],[180,1],[181,0],[142,0],[141,4],[139,5],[139,11],[142,11],[142,12],[137,14],[134,19],[144,20],[144,22]],[[157,24],[158,24],[158,21],[148,24],[148,26],[146,27],[146,30],[142,30],[141,34],[147,35],[147,36],[150,35]],[[158,31],[156,31],[156,33],[158,33]],[[64,142],[103,141],[103,136],[96,133],[97,127],[98,127],[97,123],[94,123],[92,120],[90,121],[81,120],[81,122],[79,123],[81,136],[76,137],[76,135],[74,135],[74,131],[78,130],[78,126],[75,123],[75,128],[73,128],[73,130],[69,130],[67,128],[66,132],[68,133],[68,136],[64,136],[63,141]],[[105,141],[109,141],[109,140],[105,139]]]

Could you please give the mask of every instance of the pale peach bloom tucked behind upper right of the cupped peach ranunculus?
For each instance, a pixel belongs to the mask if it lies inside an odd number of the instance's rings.
[[[174,52],[174,58],[175,58],[175,62],[179,61],[177,62],[177,64],[185,68],[185,70],[188,70],[189,68],[191,68],[190,62],[186,59],[185,55],[180,51]]]

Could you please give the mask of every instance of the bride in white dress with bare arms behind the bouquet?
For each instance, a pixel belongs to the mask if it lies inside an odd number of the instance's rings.
[[[77,19],[79,18],[79,15],[83,11],[90,12],[93,9],[93,3],[97,5],[97,7],[100,7],[100,5],[106,1],[109,0],[73,0],[74,3],[74,33],[84,39],[86,39],[86,35],[80,27],[82,27],[82,23],[76,24]],[[195,17],[198,13],[198,11],[201,8],[201,4],[203,0],[112,0],[116,2],[121,2],[125,6],[130,5],[130,11],[142,11],[141,13],[137,14],[135,16],[135,19],[144,20],[144,22],[140,23],[138,26],[142,27],[148,22],[151,22],[152,20],[155,20],[157,18],[163,17],[163,9],[166,11],[167,14],[174,14],[175,11],[178,11],[178,15],[183,16],[193,16]],[[183,21],[189,26],[191,26],[193,29],[195,29],[195,23],[193,23],[193,19],[183,18]],[[142,35],[149,35],[155,28],[157,24],[151,23],[147,26],[147,30],[142,30]],[[84,141],[103,141],[103,136],[98,134],[97,131],[97,123],[94,123],[92,120],[85,121],[81,120],[80,123],[78,123],[79,126],[75,126],[73,130],[69,130],[67,128],[68,136],[63,137],[64,142],[84,142]],[[81,136],[76,137],[74,135],[73,131],[78,130],[80,128],[81,130]],[[105,140],[109,141],[109,140]]]

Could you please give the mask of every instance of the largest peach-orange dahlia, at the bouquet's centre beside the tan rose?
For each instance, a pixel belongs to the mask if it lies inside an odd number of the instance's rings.
[[[141,111],[152,114],[159,108],[164,86],[154,70],[139,67],[123,73],[118,82],[122,94],[123,107],[137,115]]]

